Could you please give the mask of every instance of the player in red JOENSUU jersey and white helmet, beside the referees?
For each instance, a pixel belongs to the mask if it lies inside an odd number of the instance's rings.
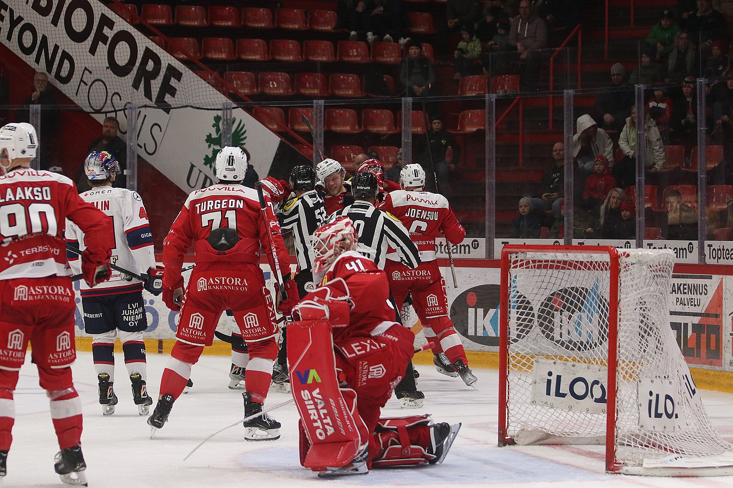
[[[435,260],[435,238],[444,234],[452,244],[460,244],[465,229],[443,195],[422,191],[425,171],[420,165],[405,165],[399,181],[405,189],[390,192],[380,209],[408,228],[410,239],[420,251],[421,264],[410,269],[399,262],[396,252],[388,254],[384,271],[389,288],[398,304],[408,293],[412,294],[425,339],[435,344],[432,352],[438,371],[453,377],[460,375],[466,385],[472,386],[476,376],[468,367],[460,336],[448,317],[446,285]]]

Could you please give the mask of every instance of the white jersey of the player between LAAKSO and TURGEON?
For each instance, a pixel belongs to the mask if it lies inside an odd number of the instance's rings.
[[[155,267],[155,253],[152,247],[152,233],[142,198],[137,192],[127,188],[97,187],[81,193],[81,198],[92,203],[112,219],[114,242],[111,263],[136,274],[147,272]],[[67,220],[66,241],[80,250],[86,249],[84,232]],[[81,272],[81,260],[73,252],[67,258],[75,273]],[[112,270],[111,278],[89,288],[81,281],[81,296],[102,296],[117,293],[132,293],[142,290],[139,279],[130,278],[119,271]]]

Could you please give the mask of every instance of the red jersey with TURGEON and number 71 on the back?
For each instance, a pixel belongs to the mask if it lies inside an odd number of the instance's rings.
[[[270,219],[273,245],[276,248],[280,270],[290,273],[290,256],[280,235],[280,226]],[[218,252],[207,239],[212,230],[230,228],[237,230],[240,241],[227,251]],[[259,264],[260,243],[268,254],[273,267],[265,217],[259,209],[257,191],[240,184],[213,184],[197,189],[188,195],[171,230],[163,241],[163,286],[172,288],[181,280],[183,255],[194,241],[196,263],[252,263]]]

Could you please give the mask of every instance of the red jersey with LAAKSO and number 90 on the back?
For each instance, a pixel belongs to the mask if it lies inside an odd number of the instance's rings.
[[[21,167],[0,176],[0,279],[70,276],[64,230],[86,235],[92,259],[107,258],[112,225],[66,176]]]

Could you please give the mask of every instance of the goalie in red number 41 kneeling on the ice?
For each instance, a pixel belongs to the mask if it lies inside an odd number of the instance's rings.
[[[301,465],[322,477],[442,462],[460,428],[429,415],[380,418],[412,359],[414,335],[394,321],[386,275],[356,252],[357,236],[348,217],[316,230],[314,275],[323,285],[293,309],[288,326]]]

